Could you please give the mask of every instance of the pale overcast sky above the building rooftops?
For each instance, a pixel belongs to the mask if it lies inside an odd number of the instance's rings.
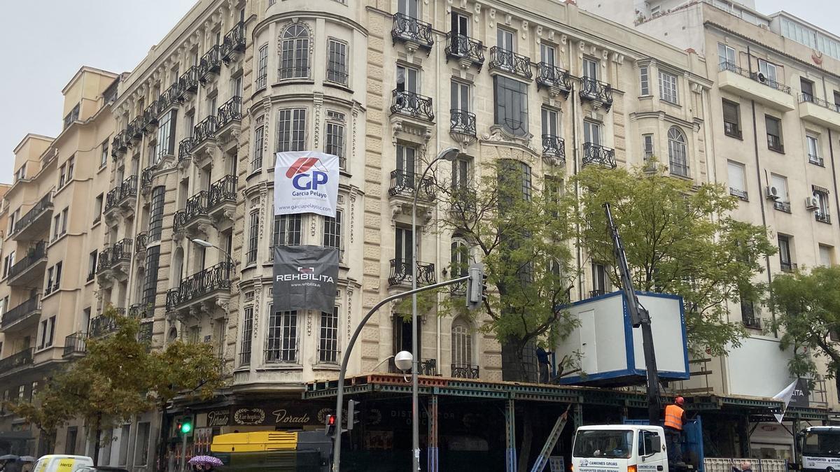
[[[611,0],[629,2],[631,0]],[[0,15],[0,182],[12,181],[14,146],[27,133],[55,136],[61,89],[81,66],[131,71],[194,0],[5,0]],[[837,0],[756,0],[762,13],[784,9],[822,28],[840,18]]]

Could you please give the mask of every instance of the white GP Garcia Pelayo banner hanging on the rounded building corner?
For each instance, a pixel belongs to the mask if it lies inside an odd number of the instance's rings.
[[[274,214],[316,213],[335,218],[339,156],[320,151],[277,153]]]

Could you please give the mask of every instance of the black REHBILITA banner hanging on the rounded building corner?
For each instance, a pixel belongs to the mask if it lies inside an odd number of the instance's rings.
[[[332,312],[339,278],[339,249],[274,247],[274,311]]]

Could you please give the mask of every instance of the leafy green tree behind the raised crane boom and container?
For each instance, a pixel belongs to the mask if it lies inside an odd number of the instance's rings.
[[[764,227],[728,216],[738,203],[726,188],[587,166],[570,179],[565,202],[580,249],[606,264],[614,255],[603,204],[612,205],[636,290],[683,297],[692,354],[740,345],[746,333],[727,320],[727,302],[759,301],[766,286],[755,275],[775,248]],[[617,268],[609,276],[619,286]]]

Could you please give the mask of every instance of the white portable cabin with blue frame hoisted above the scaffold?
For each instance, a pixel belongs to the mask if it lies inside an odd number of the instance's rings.
[[[654,333],[654,353],[659,377],[689,378],[685,312],[681,296],[638,291],[638,301],[648,309]],[[568,310],[580,326],[559,341],[556,359],[580,353],[580,370],[559,379],[564,385],[637,385],[647,375],[642,349],[642,329],[633,328],[622,292],[616,291],[572,304]]]

